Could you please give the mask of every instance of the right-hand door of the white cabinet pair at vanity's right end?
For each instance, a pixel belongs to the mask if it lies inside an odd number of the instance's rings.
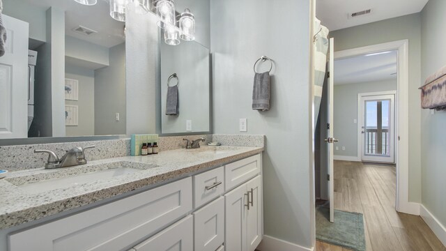
[[[256,250],[263,238],[263,196],[262,176],[257,176],[246,183],[249,193],[247,210],[247,245],[248,251]]]

